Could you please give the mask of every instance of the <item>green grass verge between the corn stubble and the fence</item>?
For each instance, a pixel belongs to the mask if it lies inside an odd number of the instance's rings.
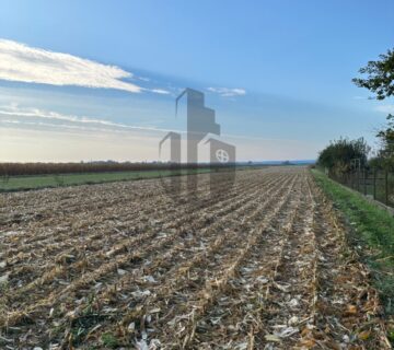
[[[394,317],[394,218],[366,200],[362,195],[313,170],[317,185],[339,210],[349,238],[369,266],[372,282],[379,290],[385,315]],[[394,325],[389,329],[394,342]]]

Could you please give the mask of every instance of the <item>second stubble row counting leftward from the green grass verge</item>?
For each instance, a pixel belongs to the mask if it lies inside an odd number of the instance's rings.
[[[267,349],[291,349],[301,327],[310,319],[315,295],[315,240],[313,233],[314,201],[309,196],[305,176],[298,209],[289,221],[281,254],[271,280],[266,284],[262,324],[253,341]]]

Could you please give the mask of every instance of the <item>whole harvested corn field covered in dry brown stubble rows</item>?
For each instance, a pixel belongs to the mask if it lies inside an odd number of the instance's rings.
[[[1,349],[390,349],[308,170],[1,195]]]

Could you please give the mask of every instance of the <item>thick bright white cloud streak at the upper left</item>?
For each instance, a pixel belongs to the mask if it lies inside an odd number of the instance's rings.
[[[104,88],[139,93],[146,90],[121,79],[132,78],[116,66],[0,39],[0,79],[50,85]],[[154,91],[153,91],[154,92]],[[163,93],[158,90],[157,93]]]

